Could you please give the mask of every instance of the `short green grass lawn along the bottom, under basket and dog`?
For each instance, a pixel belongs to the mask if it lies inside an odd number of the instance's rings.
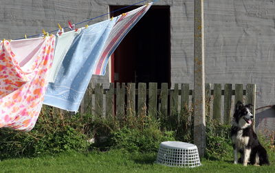
[[[118,150],[64,153],[32,159],[7,159],[0,162],[0,172],[275,172],[275,152],[269,152],[270,166],[233,165],[232,156],[220,161],[203,159],[200,167],[166,167],[155,163],[156,153],[126,153]]]

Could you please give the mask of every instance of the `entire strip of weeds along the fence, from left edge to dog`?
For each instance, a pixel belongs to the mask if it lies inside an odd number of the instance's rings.
[[[104,119],[90,114],[53,114],[44,107],[31,132],[0,130],[1,159],[40,156],[74,150],[122,149],[128,152],[157,152],[162,141],[192,143],[192,108],[173,116],[151,116],[145,108],[140,116],[130,114],[124,120]],[[173,120],[173,121],[172,121]],[[219,159],[232,150],[230,127],[208,119],[206,158]],[[87,140],[94,139],[95,143]]]

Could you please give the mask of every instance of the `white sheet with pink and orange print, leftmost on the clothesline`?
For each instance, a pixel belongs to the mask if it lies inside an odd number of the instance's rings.
[[[55,37],[1,41],[0,128],[30,131],[41,111]]]

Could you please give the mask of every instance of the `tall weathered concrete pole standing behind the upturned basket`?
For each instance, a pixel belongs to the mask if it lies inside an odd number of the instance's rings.
[[[194,0],[194,143],[199,156],[206,149],[203,0]]]

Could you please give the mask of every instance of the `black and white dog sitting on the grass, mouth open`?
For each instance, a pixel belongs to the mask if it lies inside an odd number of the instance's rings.
[[[234,148],[234,164],[238,163],[238,152],[241,153],[239,162],[243,165],[270,165],[265,148],[259,142],[253,127],[251,104],[243,105],[238,101],[235,106],[231,137]]]

